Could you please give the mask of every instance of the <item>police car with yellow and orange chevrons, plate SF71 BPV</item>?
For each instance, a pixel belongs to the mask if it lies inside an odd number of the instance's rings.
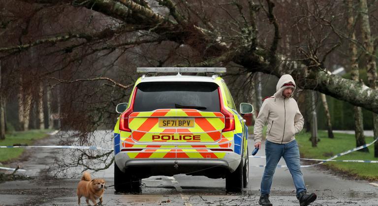
[[[140,191],[141,178],[187,174],[225,178],[226,191],[248,184],[248,129],[224,80],[225,68],[137,68],[146,73],[128,103],[117,105],[114,186]],[[150,76],[175,72],[177,75]],[[205,72],[212,76],[182,75]],[[252,113],[249,103],[240,113]]]

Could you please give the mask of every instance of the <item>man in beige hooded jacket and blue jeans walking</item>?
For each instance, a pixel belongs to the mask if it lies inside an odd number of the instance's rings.
[[[261,180],[260,205],[272,206],[269,201],[273,174],[281,157],[291,173],[296,188],[296,196],[300,206],[308,206],[314,202],[316,195],[307,194],[307,188],[301,172],[299,149],[295,135],[302,128],[304,119],[297,102],[291,98],[295,89],[291,75],[284,74],[277,83],[277,92],[272,97],[265,98],[254,123],[254,146],[261,149],[262,129],[266,122],[265,154],[266,166]]]

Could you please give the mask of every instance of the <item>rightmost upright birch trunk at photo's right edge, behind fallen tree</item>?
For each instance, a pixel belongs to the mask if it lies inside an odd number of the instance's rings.
[[[369,23],[369,9],[367,0],[360,0],[359,3],[360,12],[361,12],[361,35],[363,40],[363,45],[366,51],[367,57],[367,65],[366,71],[368,76],[368,82],[370,88],[377,90],[377,62],[375,56],[375,49],[373,44],[373,39],[371,36],[370,31],[370,23]],[[378,114],[373,113],[373,131],[374,131],[374,138],[378,138]],[[378,142],[374,145],[374,156],[378,157]]]

